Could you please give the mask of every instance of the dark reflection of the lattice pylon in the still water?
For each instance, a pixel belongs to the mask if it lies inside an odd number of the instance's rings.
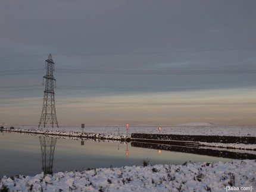
[[[52,174],[52,163],[54,162],[54,150],[57,138],[39,137],[42,153],[42,170],[45,174]]]

